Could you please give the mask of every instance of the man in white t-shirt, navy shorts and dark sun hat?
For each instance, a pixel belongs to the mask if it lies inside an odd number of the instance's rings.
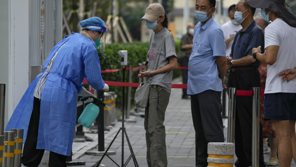
[[[291,166],[292,155],[296,154],[296,82],[282,80],[279,73],[296,67],[296,16],[285,6],[285,0],[249,0],[248,3],[261,8],[264,20],[272,21],[265,28],[265,53],[261,54],[261,46],[253,48],[252,53],[254,59],[268,64],[264,119],[271,120],[279,140],[279,165]]]

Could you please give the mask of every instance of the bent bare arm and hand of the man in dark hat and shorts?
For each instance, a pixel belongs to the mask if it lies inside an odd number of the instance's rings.
[[[277,45],[271,45],[267,46],[265,49],[265,53],[261,54],[261,46],[258,48],[253,48],[252,53],[260,51],[260,53],[256,53],[256,59],[261,61],[262,63],[272,65],[276,62],[276,56],[279,52],[279,46]]]

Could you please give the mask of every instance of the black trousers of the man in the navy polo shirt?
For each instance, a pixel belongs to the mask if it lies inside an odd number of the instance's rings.
[[[260,73],[258,70],[230,72],[229,87],[236,87],[237,90],[260,87]],[[259,166],[265,167],[261,122],[259,129]],[[252,96],[236,96],[234,144],[237,156],[234,165],[252,166]]]

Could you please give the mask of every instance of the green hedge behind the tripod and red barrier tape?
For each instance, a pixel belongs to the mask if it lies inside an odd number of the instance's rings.
[[[176,53],[180,50],[180,40],[176,39]],[[147,59],[147,52],[149,49],[149,42],[133,42],[133,43],[112,43],[107,44],[104,53],[99,53],[99,59],[101,64],[101,70],[105,69],[122,69],[123,66],[120,65],[120,55],[118,51],[126,50],[128,51],[128,67],[137,67],[138,63],[145,62]],[[138,83],[139,71],[132,72],[132,82]],[[113,73],[102,73],[103,79],[105,81],[123,81],[123,72],[113,72]],[[181,76],[181,70],[175,69],[173,71],[173,78]],[[128,70],[125,72],[125,82],[128,82]],[[119,86],[109,86],[109,91],[114,91],[118,98],[116,99],[116,106],[122,106],[122,87]],[[125,87],[125,99],[127,99],[128,87]],[[133,95],[135,94],[136,87],[131,89],[131,107],[134,106]],[[125,103],[127,101],[125,100]],[[120,107],[121,108],[121,107]],[[126,106],[125,106],[126,108]]]

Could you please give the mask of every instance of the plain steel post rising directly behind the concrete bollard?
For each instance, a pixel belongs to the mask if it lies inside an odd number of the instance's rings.
[[[234,123],[235,123],[235,99],[237,96],[237,88],[228,88],[228,128],[227,142],[234,143]]]

